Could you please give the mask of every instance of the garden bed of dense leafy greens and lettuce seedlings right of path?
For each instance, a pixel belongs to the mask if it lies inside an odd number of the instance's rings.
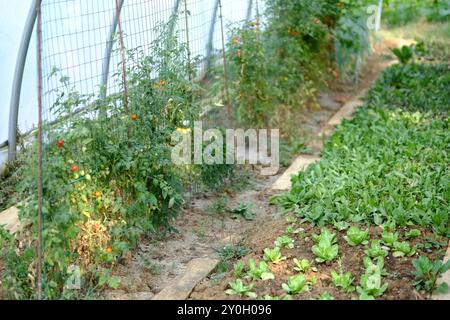
[[[450,268],[441,263],[450,236],[449,81],[446,64],[387,70],[323,160],[273,199],[286,224],[256,231],[252,254],[191,298],[427,299],[447,291],[436,280]]]

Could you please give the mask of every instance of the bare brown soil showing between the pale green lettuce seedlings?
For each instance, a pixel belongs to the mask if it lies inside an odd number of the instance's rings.
[[[288,223],[284,225],[269,224],[266,230],[259,230],[258,234],[250,236],[245,243],[248,245],[258,244],[253,246],[253,253],[246,256],[242,262],[247,265],[248,260],[263,261],[263,250],[273,246],[273,237],[264,237],[265,232],[269,234],[274,233],[274,226],[278,227],[276,232],[283,233]],[[300,228],[304,229],[302,236],[295,239],[295,247],[293,249],[283,249],[282,255],[287,259],[279,264],[269,264],[269,270],[273,273],[275,279],[270,281],[259,281],[255,283],[253,292],[260,298],[269,297],[285,297],[286,292],[282,288],[283,283],[287,283],[290,276],[298,274],[294,270],[293,259],[308,259],[314,261],[315,256],[311,252],[310,247],[313,245],[312,235],[320,233],[319,227],[312,227],[309,224],[300,224]],[[266,233],[267,234],[267,233]],[[329,264],[313,263],[317,270],[310,269],[306,273],[307,279],[310,281],[312,277],[317,278],[316,284],[310,291],[301,295],[295,296],[294,299],[317,299],[322,294],[328,293],[336,300],[357,299],[358,293],[352,291],[346,293],[343,290],[336,288],[333,284],[331,272],[333,270],[345,270],[351,272],[354,279],[359,279],[364,274],[364,265],[362,260],[365,256],[364,246],[350,246],[343,237],[345,232],[338,232],[338,245],[340,260]],[[370,228],[370,236],[372,239],[381,238],[382,230],[378,227]],[[417,255],[427,256],[431,260],[439,259],[442,256],[442,250],[447,246],[447,239],[444,237],[435,237],[432,232],[422,229],[422,236],[410,241],[412,246],[424,247],[424,249],[417,250]],[[407,240],[404,236],[400,237],[400,241]],[[430,247],[434,247],[432,250]],[[430,248],[430,249],[425,249]],[[414,282],[412,260],[415,257],[396,258],[392,256],[392,252],[385,258],[385,268],[388,275],[383,281],[388,284],[389,290],[382,296],[386,300],[424,300],[429,298],[429,293],[416,290],[411,284]],[[236,296],[230,296],[225,293],[229,288],[228,283],[234,281],[233,274],[229,274],[223,281],[214,283],[214,280],[206,279],[200,283],[191,299],[236,299]],[[246,282],[250,284],[251,281]],[[247,298],[249,299],[249,298]]]

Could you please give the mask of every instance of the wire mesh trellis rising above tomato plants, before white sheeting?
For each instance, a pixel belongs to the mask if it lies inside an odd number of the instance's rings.
[[[146,55],[157,34],[155,27],[179,17],[174,32],[187,43],[192,57],[201,57],[196,65],[203,74],[208,57],[222,50],[221,26],[251,19],[254,0],[222,1],[223,24],[220,23],[218,0],[116,0],[42,2],[44,119],[55,120],[50,107],[56,91],[62,89],[60,78],[52,76],[56,69],[67,77],[73,90],[81,95],[100,93],[106,85],[108,93],[120,91],[113,75],[121,68],[120,41],[117,34],[117,12],[120,12],[126,50],[139,48]],[[184,15],[184,11],[187,13]],[[187,17],[187,23],[185,19]],[[188,30],[186,30],[186,28]],[[189,39],[188,39],[189,37]]]

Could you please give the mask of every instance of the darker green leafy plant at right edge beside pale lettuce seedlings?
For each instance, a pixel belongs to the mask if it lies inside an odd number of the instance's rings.
[[[449,291],[448,284],[443,282],[437,285],[437,279],[441,274],[450,270],[450,261],[442,263],[440,259],[431,261],[426,256],[421,256],[412,261],[414,266],[414,276],[416,282],[414,285],[419,290],[427,292],[437,291],[440,293],[447,293]]]

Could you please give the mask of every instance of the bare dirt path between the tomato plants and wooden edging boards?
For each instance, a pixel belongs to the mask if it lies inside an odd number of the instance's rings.
[[[392,44],[390,44],[392,46]],[[368,59],[357,86],[342,83],[336,79],[327,84],[327,89],[319,96],[320,109],[307,110],[298,115],[302,136],[314,155],[322,148],[322,132],[326,122],[341,106],[351,100],[357,93],[371,86],[380,72],[388,65],[387,48],[378,46],[375,54]],[[284,171],[284,170],[281,170]],[[114,275],[120,279],[117,290],[102,294],[107,299],[151,299],[170,281],[182,274],[189,261],[195,258],[218,258],[218,250],[225,245],[236,247],[245,242],[266,246],[273,241],[279,230],[285,227],[276,208],[269,205],[269,198],[274,194],[270,191],[272,184],[281,176],[263,177],[255,171],[246,171],[238,177],[248,180],[244,188],[225,189],[222,193],[202,194],[190,201],[182,210],[174,223],[177,233],[171,233],[160,238],[151,238],[139,244],[114,270]],[[245,184],[244,184],[245,185]],[[253,220],[244,218],[233,219],[229,213],[217,214],[212,206],[223,198],[228,208],[239,204],[251,204]],[[217,209],[217,208],[216,208]],[[246,241],[241,241],[245,239]],[[196,288],[193,297],[214,298],[208,287],[221,280],[217,272]],[[217,279],[216,279],[217,278]],[[212,282],[211,282],[212,281]],[[208,292],[207,296],[198,294]]]

